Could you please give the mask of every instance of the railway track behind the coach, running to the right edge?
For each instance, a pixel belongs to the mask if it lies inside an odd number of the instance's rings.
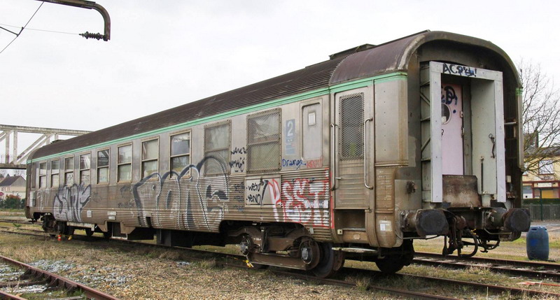
[[[414,264],[445,266],[454,269],[480,267],[515,276],[560,281],[560,264],[551,264],[548,262],[524,262],[485,257],[442,256],[428,252],[416,252],[413,262]]]

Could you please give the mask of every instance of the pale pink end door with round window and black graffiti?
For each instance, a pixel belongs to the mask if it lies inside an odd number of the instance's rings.
[[[442,173],[463,172],[463,94],[461,85],[442,85]]]

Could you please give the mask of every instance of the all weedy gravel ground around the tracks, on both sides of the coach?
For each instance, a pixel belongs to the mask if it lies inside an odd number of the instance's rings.
[[[14,213],[0,212],[0,215]],[[14,229],[40,228],[37,225],[8,222],[0,225],[11,226]],[[560,230],[557,229],[560,229],[560,222],[549,222],[547,228],[550,258],[559,260]],[[79,233],[81,232],[78,231]],[[442,240],[433,239],[415,241],[414,244],[418,251],[440,252],[442,243]],[[226,249],[229,252],[237,252],[235,246],[228,246]],[[463,299],[486,299],[484,292],[470,290],[468,287],[442,286],[423,280],[391,276],[371,278],[344,272],[337,279],[352,280],[357,284],[355,288],[321,285],[312,280],[276,276],[269,271],[224,269],[216,266],[214,258],[193,255],[186,250],[121,245],[113,241],[56,241],[46,235],[35,237],[0,233],[0,255],[68,276],[122,299],[395,299],[391,294],[372,291],[372,285],[406,287],[417,292]],[[526,259],[525,239],[522,237],[516,242],[502,243],[498,249],[477,256]],[[197,259],[193,260],[192,257]],[[377,269],[374,264],[365,262],[346,261],[345,265]],[[405,267],[401,272],[513,287],[524,287],[519,283],[528,280],[493,273],[483,267],[457,271],[412,265]],[[559,287],[541,287],[540,290],[560,293]],[[489,299],[510,299],[510,295],[503,294]]]

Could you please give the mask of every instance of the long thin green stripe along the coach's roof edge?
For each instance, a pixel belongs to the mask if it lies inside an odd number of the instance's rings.
[[[407,79],[407,73],[406,72],[394,72],[394,73],[388,73],[388,74],[369,77],[369,78],[353,80],[353,81],[350,81],[348,83],[339,83],[337,85],[332,85],[331,87],[325,87],[323,89],[314,90],[314,91],[311,91],[311,92],[304,92],[302,94],[295,94],[293,96],[288,96],[288,97],[284,97],[284,98],[281,98],[281,99],[268,101],[268,102],[265,102],[265,103],[258,103],[258,104],[254,104],[252,106],[247,106],[247,107],[244,107],[244,108],[238,108],[236,110],[230,110],[230,111],[225,112],[225,113],[218,113],[217,115],[211,115],[209,117],[202,117],[202,118],[197,119],[197,120],[192,120],[192,121],[188,121],[188,122],[184,122],[184,123],[180,123],[180,124],[175,124],[175,125],[172,125],[172,126],[169,126],[169,127],[155,129],[155,130],[152,130],[152,131],[146,131],[146,132],[143,132],[141,134],[134,134],[132,136],[125,136],[123,138],[117,138],[115,140],[106,141],[106,142],[98,143],[98,144],[95,144],[95,145],[89,145],[89,146],[83,147],[83,148],[77,148],[77,149],[73,149],[73,150],[69,150],[69,151],[65,151],[65,152],[59,152],[57,154],[48,155],[48,156],[45,156],[45,157],[38,157],[36,159],[28,160],[27,164],[33,163],[33,162],[38,162],[38,161],[45,160],[45,159],[50,159],[52,157],[60,157],[60,156],[63,156],[63,155],[76,154],[76,153],[79,153],[79,152],[85,152],[87,150],[92,150],[92,149],[96,149],[96,148],[103,148],[103,147],[106,147],[108,145],[113,145],[113,144],[116,144],[116,143],[125,143],[127,141],[132,141],[132,140],[135,140],[137,138],[145,138],[145,137],[148,137],[148,136],[155,136],[155,135],[167,132],[167,131],[175,131],[175,130],[179,130],[179,129],[183,129],[183,128],[187,128],[187,127],[193,127],[195,125],[202,124],[202,123],[214,122],[216,120],[222,120],[222,119],[225,119],[225,118],[228,118],[228,117],[234,117],[236,115],[243,115],[245,113],[252,113],[252,112],[257,111],[257,110],[273,108],[273,107],[276,107],[276,106],[281,106],[283,104],[293,103],[293,102],[302,101],[302,100],[305,100],[305,99],[311,99],[311,98],[315,98],[315,97],[321,97],[321,96],[325,96],[325,95],[328,95],[328,94],[331,94],[331,93],[344,92],[346,90],[353,90],[353,89],[360,88],[360,87],[367,87],[368,85],[372,85],[373,82],[384,83],[384,82],[388,82],[388,81],[406,80],[406,79]]]

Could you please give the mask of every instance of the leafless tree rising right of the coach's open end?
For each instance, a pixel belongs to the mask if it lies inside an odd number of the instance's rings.
[[[538,170],[543,159],[560,161],[560,93],[540,64],[518,64],[523,85],[525,168]]]

